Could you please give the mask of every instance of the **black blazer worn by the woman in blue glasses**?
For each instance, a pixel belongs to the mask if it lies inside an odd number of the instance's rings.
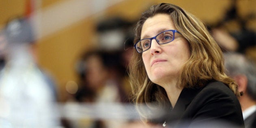
[[[203,88],[184,88],[176,105],[164,117],[168,128],[244,128],[239,100],[222,82]]]

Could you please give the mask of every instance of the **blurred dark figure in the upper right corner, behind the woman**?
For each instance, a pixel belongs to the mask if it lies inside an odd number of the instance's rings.
[[[246,53],[248,48],[256,46],[256,32],[249,27],[250,20],[255,19],[253,12],[239,14],[239,0],[231,0],[229,9],[223,17],[212,26],[212,34],[224,52]]]

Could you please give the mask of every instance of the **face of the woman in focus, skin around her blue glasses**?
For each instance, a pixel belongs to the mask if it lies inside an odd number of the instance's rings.
[[[141,30],[141,39],[151,38],[164,30],[176,30],[171,17],[157,14],[148,18]],[[179,33],[170,43],[159,45],[155,39],[150,49],[142,53],[143,63],[150,80],[157,85],[176,84],[184,63],[191,55],[188,41]]]

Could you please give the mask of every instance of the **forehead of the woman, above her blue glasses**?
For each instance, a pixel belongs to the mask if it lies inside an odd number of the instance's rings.
[[[162,32],[163,30],[170,29],[176,29],[171,17],[168,14],[156,14],[144,22],[141,29],[141,37],[151,37],[152,35]]]

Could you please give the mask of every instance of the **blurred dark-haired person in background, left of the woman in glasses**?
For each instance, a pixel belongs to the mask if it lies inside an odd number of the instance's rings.
[[[86,52],[80,61],[80,88],[76,93],[79,102],[120,102],[118,90],[109,84],[107,65],[104,64],[104,52]]]

